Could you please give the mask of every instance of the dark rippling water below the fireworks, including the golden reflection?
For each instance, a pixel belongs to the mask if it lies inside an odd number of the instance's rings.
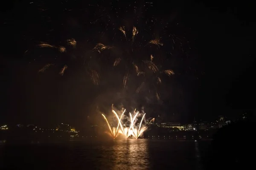
[[[124,139],[0,146],[0,169],[201,170],[209,142]]]

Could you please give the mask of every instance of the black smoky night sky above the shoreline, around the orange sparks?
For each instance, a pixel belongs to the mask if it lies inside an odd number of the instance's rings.
[[[112,103],[128,110],[144,106],[148,117],[160,114],[168,122],[253,111],[252,5],[239,3],[233,4],[239,7],[229,8],[217,2],[150,2],[16,0],[1,6],[0,123],[67,122],[80,127],[88,116],[99,114],[97,108],[106,111]],[[164,45],[154,50],[140,45],[131,51],[124,37],[120,38],[120,26],[139,29],[136,45],[152,36],[160,37]],[[177,41],[173,43],[169,35]],[[67,46],[66,40],[71,38],[77,42],[75,48]],[[67,52],[39,48],[40,42],[65,46]],[[99,54],[92,51],[98,42],[117,48]],[[159,88],[153,74],[146,72],[144,80],[131,76],[124,88],[123,75],[127,69],[131,73],[128,63],[134,61],[129,57],[138,58],[136,62],[140,56],[150,59],[150,52],[157,56],[153,61],[159,68],[172,69],[175,74],[163,77]],[[114,68],[116,56],[122,60]],[[54,66],[39,73],[47,63]],[[64,65],[68,68],[61,76]],[[93,85],[89,67],[100,70],[99,85]],[[145,86],[136,94],[141,81]],[[156,89],[160,100],[153,93]]]

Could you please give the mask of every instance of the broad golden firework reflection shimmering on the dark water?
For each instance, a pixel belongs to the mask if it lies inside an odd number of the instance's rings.
[[[148,140],[124,139],[113,146],[113,170],[145,170],[149,168]]]

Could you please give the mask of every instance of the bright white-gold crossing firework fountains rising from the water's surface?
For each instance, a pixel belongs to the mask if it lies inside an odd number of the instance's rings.
[[[130,114],[130,125],[129,125],[129,127],[124,127],[122,125],[122,117],[123,117],[125,111],[126,110],[124,110],[122,112],[122,115],[119,118],[116,111],[112,110],[112,113],[116,116],[116,120],[117,120],[117,127],[113,127],[113,128],[111,128],[111,126],[109,125],[108,119],[102,114],[102,116],[104,117],[105,121],[108,124],[109,131],[107,133],[111,137],[113,137],[113,139],[116,139],[116,137],[119,136],[120,134],[122,136],[124,136],[125,138],[133,136],[135,139],[138,139],[140,137],[140,135],[147,129],[147,127],[142,125],[142,122],[143,122],[143,119],[144,119],[146,113],[143,114],[143,117],[142,117],[138,127],[136,126],[136,119],[137,119],[139,112],[135,113],[134,116],[132,116],[131,113],[129,113]]]

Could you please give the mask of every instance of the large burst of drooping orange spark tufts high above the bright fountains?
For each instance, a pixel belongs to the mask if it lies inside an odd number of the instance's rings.
[[[145,32],[143,31],[140,31],[141,36],[137,37],[139,35],[139,29],[135,26],[133,26],[131,30],[126,30],[125,26],[120,26],[118,30],[122,33],[121,37],[125,37],[125,41],[118,39],[118,44],[115,43],[116,41],[113,41],[115,45],[112,47],[102,43],[97,43],[93,48],[93,51],[98,51],[99,54],[101,54],[101,57],[105,57],[105,53],[103,53],[103,51],[111,49],[111,56],[115,57],[113,67],[118,67],[120,65],[118,68],[121,68],[122,70],[124,69],[124,72],[121,72],[123,73],[123,87],[128,87],[130,78],[134,79],[134,76],[143,76],[143,78],[135,78],[140,81],[142,80],[140,85],[136,87],[135,92],[139,93],[140,90],[145,87],[145,84],[148,84],[146,86],[149,88],[148,91],[152,91],[152,89],[154,89],[154,96],[159,100],[160,92],[157,90],[157,85],[160,85],[163,82],[160,74],[167,74],[169,77],[174,74],[172,70],[160,71],[162,66],[160,65],[160,68],[158,68],[159,65],[154,62],[154,60],[160,60],[157,54],[160,46],[163,46],[163,43],[160,41],[160,38],[146,40],[144,38]],[[153,46],[151,44],[153,44]],[[157,47],[155,48],[156,51],[154,51],[156,57],[151,54],[150,60],[145,60],[145,58],[147,58],[145,54],[147,54],[148,51],[152,51],[152,49],[154,49],[152,47],[154,46]],[[106,54],[109,55],[109,53]],[[115,56],[116,54],[117,56]]]

